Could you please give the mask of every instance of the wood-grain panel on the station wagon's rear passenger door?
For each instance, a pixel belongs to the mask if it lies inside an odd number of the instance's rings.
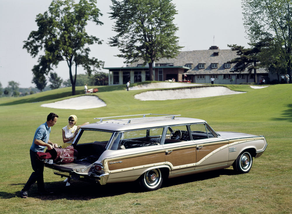
[[[173,166],[180,166],[196,162],[196,147],[180,149],[165,155],[165,161]]]

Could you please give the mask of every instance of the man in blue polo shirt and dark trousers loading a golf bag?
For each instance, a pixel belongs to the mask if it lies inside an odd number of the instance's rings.
[[[58,115],[55,113],[50,113],[47,116],[47,121],[41,124],[34,133],[34,140],[32,141],[32,146],[30,147],[30,161],[32,163],[32,169],[34,172],[30,175],[28,181],[26,182],[23,189],[20,191],[20,196],[22,198],[27,198],[27,191],[37,182],[37,189],[39,194],[48,194],[44,186],[44,163],[40,161],[36,153],[44,152],[44,149],[47,147],[48,150],[57,148],[58,145],[49,140],[51,133],[51,126],[54,126],[58,120]]]

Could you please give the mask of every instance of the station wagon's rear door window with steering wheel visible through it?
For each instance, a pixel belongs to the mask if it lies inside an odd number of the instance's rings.
[[[177,143],[191,140],[190,133],[186,125],[183,126],[168,126],[166,131],[164,144]]]

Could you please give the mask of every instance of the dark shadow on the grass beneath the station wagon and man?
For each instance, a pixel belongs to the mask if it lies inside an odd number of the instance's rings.
[[[184,183],[196,182],[200,180],[217,178],[220,175],[236,175],[236,174],[237,173],[232,169],[220,169],[220,170],[214,170],[214,171],[209,171],[209,172],[204,172],[204,173],[199,173],[199,174],[194,174],[194,175],[185,175],[179,178],[171,178],[171,179],[165,180],[162,188],[180,185]],[[29,197],[39,198],[41,200],[50,200],[50,201],[57,200],[57,199],[84,201],[84,200],[91,200],[91,199],[96,199],[96,198],[118,196],[118,195],[122,195],[126,193],[143,192],[143,190],[139,188],[138,182],[124,182],[124,183],[112,183],[112,184],[106,184],[106,185],[99,185],[99,184],[90,183],[90,182],[80,182],[80,181],[71,180],[71,185],[69,187],[66,187],[65,183],[62,181],[47,182],[45,183],[45,186],[46,186],[46,189],[54,192],[54,194],[48,195],[48,196],[41,196],[37,192],[36,185],[34,185],[28,191]],[[15,194],[0,192],[0,198],[2,199],[11,199],[15,197],[15,195],[20,196],[20,191],[15,192]]]

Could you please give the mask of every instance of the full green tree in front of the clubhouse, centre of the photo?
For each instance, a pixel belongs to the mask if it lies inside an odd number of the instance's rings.
[[[161,58],[173,58],[183,47],[178,45],[178,30],[173,24],[177,14],[171,0],[112,0],[110,18],[115,19],[114,31],[109,44],[117,46],[125,63],[143,59],[149,64],[150,79],[153,62]]]

